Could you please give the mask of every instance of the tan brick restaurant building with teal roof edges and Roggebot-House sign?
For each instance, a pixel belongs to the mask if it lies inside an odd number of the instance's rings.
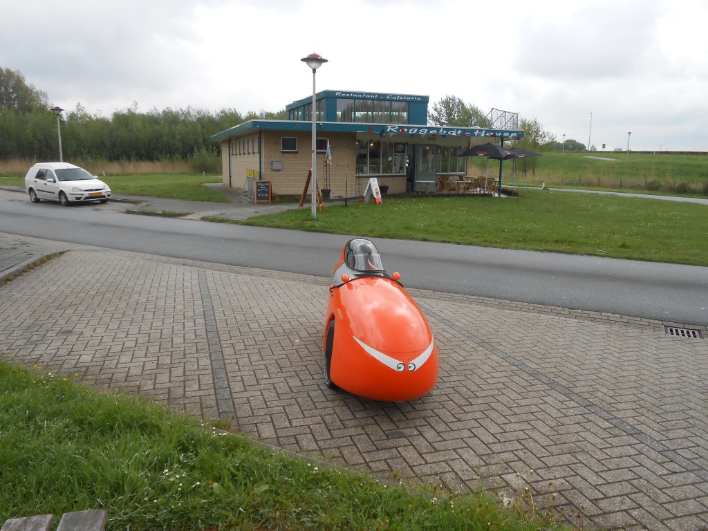
[[[524,134],[515,123],[427,125],[428,96],[326,90],[315,101],[316,177],[331,198],[362,195],[371,177],[389,194],[434,191],[440,176],[467,176],[467,157],[457,155],[468,147],[509,144]],[[278,195],[303,193],[312,165],[312,96],[285,110],[287,120],[249,120],[212,136],[222,147],[225,186],[246,189],[251,177],[270,181]]]

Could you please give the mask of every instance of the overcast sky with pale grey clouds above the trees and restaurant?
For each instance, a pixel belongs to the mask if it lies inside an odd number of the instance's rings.
[[[66,110],[246,114],[312,94],[299,59],[317,52],[318,91],[451,95],[559,142],[705,152],[707,21],[705,0],[0,0],[0,67]]]

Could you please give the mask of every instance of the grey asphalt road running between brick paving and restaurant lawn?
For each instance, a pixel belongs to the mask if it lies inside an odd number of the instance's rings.
[[[120,212],[127,205],[61,207],[0,194],[0,232],[75,244],[243,265],[331,274],[351,236],[168,219]],[[708,268],[588,256],[374,239],[401,282],[571,309],[708,324]]]

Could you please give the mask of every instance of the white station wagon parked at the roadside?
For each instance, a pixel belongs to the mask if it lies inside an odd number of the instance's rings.
[[[110,188],[96,176],[66,162],[38,162],[25,176],[25,190],[30,201],[59,201],[64,206],[72,202],[100,201],[110,198]]]

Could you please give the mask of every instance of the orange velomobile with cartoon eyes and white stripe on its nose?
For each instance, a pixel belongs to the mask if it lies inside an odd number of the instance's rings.
[[[438,379],[438,348],[418,304],[389,275],[371,241],[342,249],[329,286],[324,375],[329,387],[384,401],[428,394]]]

